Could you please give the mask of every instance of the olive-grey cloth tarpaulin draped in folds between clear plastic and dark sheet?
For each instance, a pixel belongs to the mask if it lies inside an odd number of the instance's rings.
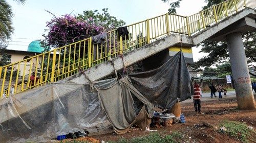
[[[143,130],[149,128],[154,106],[131,84],[128,76],[119,81],[111,79],[94,82],[93,85],[117,134],[126,133],[133,124]]]

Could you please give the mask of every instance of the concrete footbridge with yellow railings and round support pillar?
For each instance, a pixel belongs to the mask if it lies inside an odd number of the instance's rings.
[[[100,43],[89,37],[2,66],[0,96],[18,96],[39,86],[70,80],[71,76],[77,77],[73,82],[86,82],[77,74],[79,68],[86,70],[91,80],[99,80],[166,49],[172,56],[181,48],[187,62],[193,62],[191,47],[212,39],[228,43],[239,108],[255,108],[241,36],[256,29],[255,8],[255,0],[229,0],[190,16],[166,13],[127,26],[127,35],[112,30]],[[30,80],[33,72],[38,80]]]

